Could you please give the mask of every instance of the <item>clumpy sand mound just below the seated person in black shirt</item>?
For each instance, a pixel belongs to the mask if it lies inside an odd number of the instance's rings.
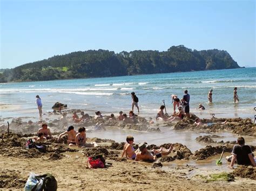
[[[234,176],[256,180],[256,168],[252,166],[238,166],[232,172]]]

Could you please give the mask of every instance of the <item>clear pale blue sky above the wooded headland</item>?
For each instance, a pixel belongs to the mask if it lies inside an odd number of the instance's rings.
[[[255,1],[0,0],[0,68],[88,49],[224,49],[255,67]]]

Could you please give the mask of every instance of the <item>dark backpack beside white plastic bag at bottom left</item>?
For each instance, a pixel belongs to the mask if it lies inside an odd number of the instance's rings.
[[[58,188],[57,185],[57,181],[55,179],[55,177],[50,174],[50,173],[46,173],[40,176],[35,176],[35,178],[39,181],[39,183],[41,182],[41,179],[43,180],[43,186],[39,189],[37,189],[38,183],[36,184],[35,187],[33,187],[33,189],[31,191],[34,190],[38,190],[38,191],[56,191]]]

